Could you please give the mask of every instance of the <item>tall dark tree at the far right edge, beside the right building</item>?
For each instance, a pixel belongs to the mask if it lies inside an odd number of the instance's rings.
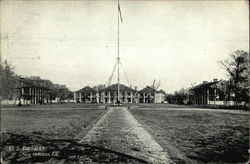
[[[229,75],[229,86],[235,95],[235,102],[249,102],[249,53],[243,50],[236,50],[230,54],[227,60],[221,60],[220,64]]]

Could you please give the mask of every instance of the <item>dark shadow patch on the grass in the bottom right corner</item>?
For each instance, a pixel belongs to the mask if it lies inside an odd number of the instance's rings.
[[[236,131],[243,135],[237,135]],[[249,160],[249,145],[244,138],[247,135],[243,126],[236,126],[227,133],[221,132],[206,139],[197,138],[194,141],[195,147],[199,147],[195,150],[197,155],[188,157],[205,163],[245,163]]]

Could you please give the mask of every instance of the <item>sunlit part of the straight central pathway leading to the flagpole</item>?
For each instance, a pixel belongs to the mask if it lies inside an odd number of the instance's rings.
[[[110,107],[81,142],[132,155],[150,163],[171,163],[167,152],[125,107]]]

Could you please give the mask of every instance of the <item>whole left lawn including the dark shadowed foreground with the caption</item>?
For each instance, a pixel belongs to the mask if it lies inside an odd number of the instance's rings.
[[[144,162],[126,154],[78,143],[105,111],[103,104],[5,108],[1,110],[1,162]]]

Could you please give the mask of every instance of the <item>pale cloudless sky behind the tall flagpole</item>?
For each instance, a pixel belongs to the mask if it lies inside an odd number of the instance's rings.
[[[120,1],[121,83],[173,93],[226,79],[218,63],[249,52],[247,1]],[[105,84],[117,57],[117,1],[1,1],[1,59],[22,76],[76,91]],[[112,83],[117,83],[117,72]]]

